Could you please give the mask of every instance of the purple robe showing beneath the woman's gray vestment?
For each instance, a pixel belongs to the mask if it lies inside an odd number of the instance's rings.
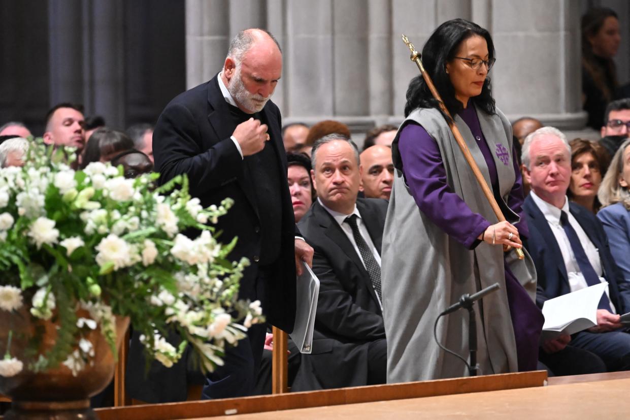
[[[464,108],[459,116],[475,136],[488,165],[493,190],[498,191],[495,161],[486,143],[486,137],[481,132],[474,105]],[[420,210],[435,225],[465,247],[473,249],[479,245],[481,240],[478,236],[490,226],[490,222],[481,214],[473,213],[466,202],[450,189],[446,182],[446,171],[440,149],[427,131],[421,125],[410,122],[400,133],[398,149],[403,160],[406,183]],[[514,153],[512,150],[512,155]],[[524,201],[522,178],[516,160],[513,159],[513,162],[516,181],[510,191],[507,204],[514,213],[520,216],[520,222],[515,226],[520,236],[526,238],[529,230],[527,230],[522,211]],[[479,194],[483,194],[481,189],[479,189]],[[505,284],[517,345],[518,370],[536,370],[538,341],[544,318],[507,265],[505,265]]]

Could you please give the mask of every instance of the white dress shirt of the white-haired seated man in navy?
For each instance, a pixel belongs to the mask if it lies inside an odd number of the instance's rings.
[[[593,270],[595,270],[595,274],[599,276],[599,280],[605,282],[606,280],[602,277],[603,269],[602,269],[602,260],[599,257],[599,250],[595,248],[593,242],[588,238],[588,235],[580,226],[580,223],[573,217],[573,214],[569,211],[569,200],[564,197],[564,205],[562,209],[559,209],[553,204],[549,204],[536,195],[536,193],[532,190],[530,191],[532,194],[532,199],[536,203],[536,206],[541,210],[542,214],[547,219],[547,223],[549,223],[549,228],[553,232],[556,237],[556,242],[558,242],[558,247],[560,248],[560,252],[562,253],[562,258],[564,260],[564,267],[566,267],[566,274],[569,277],[569,287],[571,291],[580,290],[583,288],[587,288],[588,284],[586,279],[584,278],[578,261],[575,259],[575,255],[573,254],[573,248],[571,248],[571,243],[569,242],[569,238],[566,236],[564,232],[564,228],[562,227],[562,223],[560,221],[560,214],[562,211],[567,214],[569,224],[575,230],[575,233],[578,235],[580,239],[580,243],[582,248],[584,248],[585,254],[587,254],[588,261],[593,266]],[[608,287],[606,288],[606,295],[610,294],[608,291]],[[614,305],[612,305],[612,301],[610,302],[610,306],[612,308],[612,313],[615,312]]]

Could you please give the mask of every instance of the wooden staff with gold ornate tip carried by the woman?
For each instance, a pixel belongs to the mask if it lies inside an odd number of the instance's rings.
[[[433,98],[435,98],[437,102],[440,104],[440,109],[442,110],[442,112],[444,112],[444,114],[449,116],[450,120],[447,120],[447,123],[449,124],[450,131],[453,132],[453,136],[455,136],[455,141],[457,141],[459,148],[462,150],[462,153],[464,153],[464,158],[466,158],[466,162],[468,163],[468,166],[470,166],[471,169],[473,170],[474,177],[477,178],[477,182],[479,182],[479,186],[481,187],[483,194],[486,196],[486,199],[490,203],[492,210],[495,212],[496,218],[499,219],[499,221],[505,221],[505,216],[503,216],[503,212],[501,212],[499,205],[496,204],[495,196],[492,194],[490,187],[488,187],[488,184],[486,184],[486,180],[481,174],[481,171],[479,170],[479,166],[477,166],[477,163],[474,161],[473,155],[471,155],[471,151],[468,149],[468,146],[466,145],[466,142],[464,141],[464,137],[462,137],[462,134],[461,132],[459,132],[457,125],[455,125],[455,122],[454,122],[455,120],[450,115],[449,110],[447,110],[447,108],[445,107],[444,102],[442,101],[442,98],[440,97],[440,94],[435,89],[435,86],[433,86],[431,77],[425,71],[425,67],[422,65],[422,61],[420,60],[420,53],[416,51],[413,44],[411,44],[409,38],[407,38],[406,35],[404,34],[403,34],[403,42],[411,50],[411,61],[415,62],[418,65],[418,69],[420,69],[420,74],[422,74],[423,79],[425,79],[425,82],[427,83],[427,86],[429,90],[431,91]],[[521,250],[520,248],[515,248],[515,251],[518,255],[518,259],[522,260],[525,258],[525,254],[523,254],[523,250]]]

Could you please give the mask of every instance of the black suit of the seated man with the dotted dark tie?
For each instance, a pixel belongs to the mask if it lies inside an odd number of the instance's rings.
[[[387,201],[358,199],[357,209],[380,254]],[[369,274],[319,201],[298,226],[315,250],[313,272],[321,283],[312,353],[303,355],[292,389],[366,385],[367,343],[385,338],[381,306]]]

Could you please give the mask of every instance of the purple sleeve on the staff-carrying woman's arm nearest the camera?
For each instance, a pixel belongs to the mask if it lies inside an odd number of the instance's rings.
[[[418,124],[406,125],[398,149],[404,177],[422,213],[464,247],[473,249],[479,245],[477,236],[490,223],[452,192],[446,182],[440,149],[427,131]]]

